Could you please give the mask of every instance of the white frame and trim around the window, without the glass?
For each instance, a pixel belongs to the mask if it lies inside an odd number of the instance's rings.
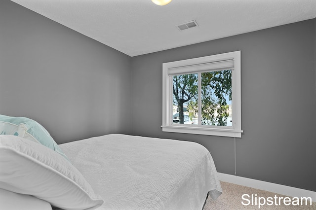
[[[232,126],[199,126],[174,124],[173,112],[173,75],[174,73],[205,71],[209,66],[214,70],[214,62],[231,60],[234,62],[232,70]],[[205,56],[162,64],[162,131],[225,136],[241,138],[241,61],[240,51]],[[219,67],[219,69],[221,69]]]

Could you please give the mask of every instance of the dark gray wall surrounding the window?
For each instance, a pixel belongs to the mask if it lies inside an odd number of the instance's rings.
[[[201,143],[218,172],[234,175],[233,138],[161,131],[162,63],[241,50],[237,175],[316,191],[315,22],[133,57],[133,134]]]

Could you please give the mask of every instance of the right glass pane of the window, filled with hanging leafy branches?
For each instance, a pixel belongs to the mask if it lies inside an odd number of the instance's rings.
[[[201,125],[232,126],[232,70],[201,73]]]

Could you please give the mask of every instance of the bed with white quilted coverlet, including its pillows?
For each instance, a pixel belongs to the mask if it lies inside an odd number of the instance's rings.
[[[29,124],[14,125],[0,135],[0,209],[33,199],[32,210],[202,210],[222,193],[211,154],[195,142],[110,134],[47,146],[24,138],[35,136]]]

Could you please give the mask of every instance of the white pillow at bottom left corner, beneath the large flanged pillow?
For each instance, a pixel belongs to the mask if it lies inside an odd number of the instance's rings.
[[[1,210],[52,210],[47,201],[0,188]]]

